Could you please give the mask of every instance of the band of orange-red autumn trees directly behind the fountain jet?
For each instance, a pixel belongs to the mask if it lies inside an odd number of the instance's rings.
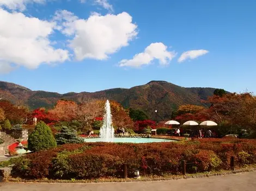
[[[71,100],[59,100],[53,109],[46,111],[44,108],[36,109],[31,117],[44,121],[46,124],[76,121],[83,127],[91,128],[95,121],[103,120],[105,100],[90,99],[82,104]],[[133,128],[133,122],[119,103],[111,101],[112,122],[116,127]],[[32,120],[30,120],[32,122]]]

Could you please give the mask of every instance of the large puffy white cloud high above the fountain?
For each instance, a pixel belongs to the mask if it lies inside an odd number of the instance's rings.
[[[71,37],[69,46],[77,60],[107,59],[109,54],[128,46],[137,35],[137,26],[126,12],[105,16],[93,14],[83,20],[63,10],[56,13],[54,20],[63,26],[60,31]]]

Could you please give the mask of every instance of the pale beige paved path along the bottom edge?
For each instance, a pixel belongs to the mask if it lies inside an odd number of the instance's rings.
[[[181,179],[154,182],[117,182],[117,183],[2,183],[0,191],[210,191],[210,190],[256,190],[256,172],[212,176],[197,179]]]

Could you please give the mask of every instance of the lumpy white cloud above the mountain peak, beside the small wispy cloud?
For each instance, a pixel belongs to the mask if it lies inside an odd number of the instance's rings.
[[[145,48],[143,53],[136,54],[131,60],[121,60],[119,66],[140,67],[142,65],[149,65],[154,59],[159,60],[160,65],[168,65],[168,63],[175,57],[174,51],[169,52],[167,46],[162,42],[151,43]]]

